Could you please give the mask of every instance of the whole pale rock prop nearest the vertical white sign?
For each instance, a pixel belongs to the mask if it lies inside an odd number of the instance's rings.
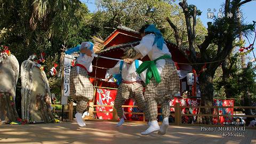
[[[43,69],[37,62],[23,61],[21,64],[21,115],[33,122],[54,122],[50,87]],[[40,65],[41,66],[41,65]]]

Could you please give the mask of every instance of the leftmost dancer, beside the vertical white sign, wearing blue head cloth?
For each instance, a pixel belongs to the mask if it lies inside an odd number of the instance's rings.
[[[93,85],[89,81],[88,73],[92,72],[93,43],[83,42],[65,53],[72,54],[79,52],[75,67],[70,70],[70,96],[77,101],[75,114],[79,126],[85,126],[82,114],[87,107],[89,100],[93,99]]]

